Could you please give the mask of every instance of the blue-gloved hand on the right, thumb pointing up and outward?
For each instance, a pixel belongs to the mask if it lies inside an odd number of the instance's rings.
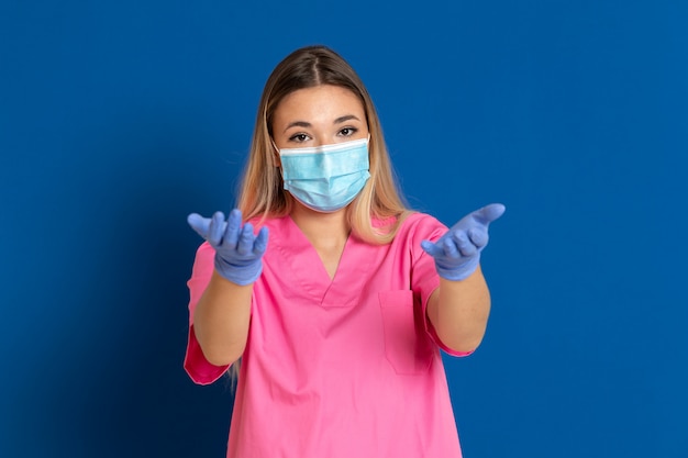
[[[436,243],[421,242],[421,247],[435,259],[440,277],[463,280],[480,262],[480,252],[487,245],[489,224],[502,215],[506,208],[491,203],[462,217]]]

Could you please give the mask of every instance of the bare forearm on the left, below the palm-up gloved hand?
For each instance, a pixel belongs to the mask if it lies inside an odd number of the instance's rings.
[[[203,355],[215,366],[236,361],[246,347],[253,283],[238,286],[213,271],[193,313],[193,329]]]

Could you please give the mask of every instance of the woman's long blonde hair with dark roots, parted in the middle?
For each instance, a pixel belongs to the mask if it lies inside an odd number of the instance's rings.
[[[263,221],[290,213],[293,198],[284,190],[281,174],[275,165],[273,115],[289,93],[321,85],[348,89],[363,103],[370,133],[370,178],[347,206],[347,220],[358,238],[371,244],[387,244],[393,239],[399,224],[410,211],[399,192],[382,129],[367,89],[351,65],[326,46],[306,46],[292,52],[275,67],[265,83],[238,189],[237,208],[245,220],[259,217]],[[380,220],[382,226],[376,227],[373,219]]]

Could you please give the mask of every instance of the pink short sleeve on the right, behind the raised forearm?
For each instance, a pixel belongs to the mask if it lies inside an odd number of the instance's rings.
[[[456,351],[442,343],[437,333],[428,317],[428,301],[430,295],[440,287],[440,276],[435,269],[435,261],[432,256],[428,255],[421,247],[421,242],[426,239],[436,242],[442,237],[448,228],[430,215],[419,214],[412,231],[409,234],[411,250],[413,256],[411,289],[420,294],[422,316],[425,332],[433,342],[451,356],[468,356],[473,351]]]

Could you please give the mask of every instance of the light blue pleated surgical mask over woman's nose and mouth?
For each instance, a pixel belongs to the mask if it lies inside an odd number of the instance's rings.
[[[285,189],[312,210],[346,206],[370,177],[368,139],[279,149]]]

